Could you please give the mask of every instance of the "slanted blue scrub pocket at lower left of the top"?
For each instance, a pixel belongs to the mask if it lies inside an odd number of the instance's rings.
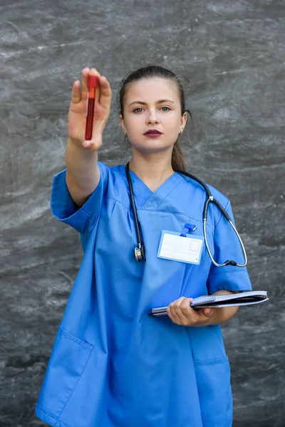
[[[54,418],[61,416],[81,379],[92,351],[92,344],[75,337],[59,325],[46,368],[47,374],[38,397],[38,406],[42,411]]]

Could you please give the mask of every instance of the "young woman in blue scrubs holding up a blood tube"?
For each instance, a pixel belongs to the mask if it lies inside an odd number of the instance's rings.
[[[98,76],[100,90],[93,137],[85,141],[89,74]],[[170,70],[148,66],[123,80],[119,97],[132,156],[127,167],[108,167],[98,162],[110,112],[108,80],[85,68],[82,83],[73,84],[66,169],[53,179],[51,210],[81,233],[84,257],[36,414],[56,427],[232,426],[230,369],[219,324],[236,308],[193,310],[190,302],[250,290],[247,270],[217,267],[204,243],[199,263],[162,257],[163,231],[171,236],[191,223],[193,238],[203,236],[205,190],[175,172],[185,169],[178,142],[187,122],[185,95]],[[227,197],[209,188],[232,218]],[[213,204],[207,238],[218,263],[243,263],[237,237]],[[152,307],[160,306],[168,306],[168,316],[151,316]]]

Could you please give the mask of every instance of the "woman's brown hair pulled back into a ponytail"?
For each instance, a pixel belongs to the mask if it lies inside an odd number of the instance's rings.
[[[182,86],[182,82],[180,78],[178,78],[177,75],[175,75],[175,73],[172,73],[172,71],[167,70],[167,68],[163,68],[158,65],[147,65],[146,67],[138,68],[138,70],[133,71],[122,80],[120,90],[117,95],[117,102],[120,110],[120,115],[122,115],[123,117],[124,97],[130,83],[141,80],[142,78],[153,78],[153,77],[167,78],[176,83],[179,96],[180,96],[181,115],[183,115],[185,112],[189,112],[190,117],[192,119],[190,110],[185,110],[185,93],[184,93],[184,88]],[[175,144],[173,146],[171,164],[172,164],[172,169],[174,170],[185,171],[186,169],[185,158],[183,156],[182,147],[180,142],[178,141],[178,138],[176,139]]]

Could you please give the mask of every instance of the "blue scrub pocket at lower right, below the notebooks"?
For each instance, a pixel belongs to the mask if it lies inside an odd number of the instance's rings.
[[[195,361],[203,427],[232,427],[232,390],[228,357]]]

